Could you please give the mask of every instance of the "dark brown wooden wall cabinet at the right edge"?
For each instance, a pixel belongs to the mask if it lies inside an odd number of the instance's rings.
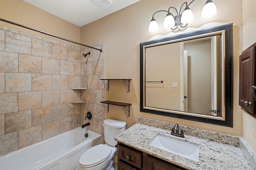
[[[239,56],[239,106],[256,117],[256,43]]]

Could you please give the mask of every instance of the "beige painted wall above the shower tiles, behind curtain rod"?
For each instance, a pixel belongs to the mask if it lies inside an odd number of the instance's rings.
[[[80,43],[80,27],[45,12],[40,8],[32,6],[23,0],[0,0],[0,18]],[[0,24],[2,26],[80,47],[80,45],[69,43],[64,40],[62,41],[10,23],[1,21]]]

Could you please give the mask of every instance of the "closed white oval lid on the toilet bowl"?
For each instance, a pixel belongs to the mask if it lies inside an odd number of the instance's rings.
[[[111,147],[103,144],[96,145],[95,147],[86,150],[79,159],[80,166],[88,168],[101,164],[108,159],[111,150]]]

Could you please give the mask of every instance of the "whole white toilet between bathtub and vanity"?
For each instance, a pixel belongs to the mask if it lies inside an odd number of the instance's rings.
[[[114,170],[116,141],[114,137],[126,129],[126,122],[106,119],[103,121],[105,145],[96,145],[84,152],[79,159],[78,170]]]

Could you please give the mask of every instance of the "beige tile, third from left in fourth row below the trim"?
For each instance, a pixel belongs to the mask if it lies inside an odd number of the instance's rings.
[[[42,107],[60,104],[60,90],[42,91]]]

